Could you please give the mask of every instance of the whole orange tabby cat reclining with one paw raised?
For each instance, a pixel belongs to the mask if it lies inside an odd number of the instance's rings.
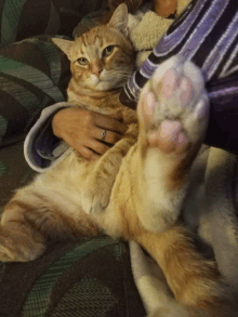
[[[54,42],[70,60],[68,101],[102,114],[121,111],[129,128],[97,161],[71,149],[16,191],[1,217],[0,261],[31,261],[44,252],[49,239],[103,230],[137,241],[162,268],[183,305],[172,304],[171,298],[156,316],[236,316],[228,313],[215,264],[197,253],[177,222],[207,128],[208,100],[199,69],[177,57],[159,67],[140,97],[138,132],[136,114],[118,101],[134,67],[127,6],[119,5],[108,25],[75,42]],[[189,89],[191,96],[186,95]]]

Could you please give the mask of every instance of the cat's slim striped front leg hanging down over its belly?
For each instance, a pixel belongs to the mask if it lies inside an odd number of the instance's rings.
[[[100,214],[108,204],[123,157],[137,140],[137,124],[130,124],[116,145],[105,153],[85,179],[82,208],[88,214]]]

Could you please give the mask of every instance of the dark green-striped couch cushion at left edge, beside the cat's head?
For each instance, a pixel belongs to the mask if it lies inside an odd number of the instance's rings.
[[[41,110],[65,101],[67,57],[50,37],[0,49],[0,146],[23,140]]]

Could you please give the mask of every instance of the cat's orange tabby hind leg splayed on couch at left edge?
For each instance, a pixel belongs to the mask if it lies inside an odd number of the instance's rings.
[[[29,185],[16,191],[5,206],[0,223],[0,261],[27,262],[39,257],[50,241],[72,240],[98,234],[94,222],[76,206],[78,219],[50,190]],[[77,222],[78,220],[78,222]]]

